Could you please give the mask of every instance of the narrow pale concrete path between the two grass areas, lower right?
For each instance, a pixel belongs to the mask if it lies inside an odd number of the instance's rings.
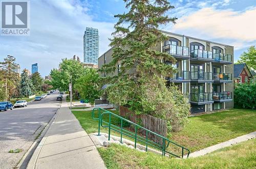
[[[214,145],[214,146],[210,146],[210,147],[207,147],[205,149],[202,149],[202,150],[190,153],[189,154],[189,158],[190,157],[202,156],[202,155],[211,153],[213,151],[222,149],[224,147],[236,145],[238,143],[244,142],[244,141],[246,141],[248,139],[252,139],[252,138],[255,138],[255,137],[256,137],[256,131],[248,133],[248,134],[245,134],[245,135],[242,135],[242,136],[239,136],[239,137],[236,137],[236,138],[233,138],[233,139],[229,139],[226,142],[223,142],[223,143],[220,143],[220,144],[217,144],[217,145]]]

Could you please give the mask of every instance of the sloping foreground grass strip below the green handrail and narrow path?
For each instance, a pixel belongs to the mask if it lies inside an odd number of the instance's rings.
[[[220,149],[205,156],[177,159],[143,153],[111,144],[98,148],[107,168],[255,168],[256,139]]]

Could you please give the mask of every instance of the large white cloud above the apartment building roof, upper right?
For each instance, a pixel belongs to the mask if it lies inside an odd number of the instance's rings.
[[[209,40],[222,39],[223,43],[241,48],[256,40],[256,8],[243,12],[203,8],[178,19],[172,32]]]

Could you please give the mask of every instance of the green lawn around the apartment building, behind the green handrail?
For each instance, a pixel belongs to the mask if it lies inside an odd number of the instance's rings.
[[[91,111],[72,111],[81,126],[87,133],[98,132],[98,121],[91,118]],[[118,114],[118,111],[112,111]],[[253,131],[256,131],[256,111],[248,109],[231,109],[214,114],[190,117],[189,123],[179,132],[172,132],[170,140],[174,140],[194,152],[203,148],[225,142]],[[118,121],[112,119],[114,124]],[[108,128],[102,128],[101,132],[108,133]],[[119,136],[111,131],[111,134]],[[180,153],[180,150],[168,148],[170,151]]]

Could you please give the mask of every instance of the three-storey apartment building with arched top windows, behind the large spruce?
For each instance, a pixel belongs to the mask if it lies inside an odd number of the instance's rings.
[[[162,31],[169,39],[157,45],[172,54],[178,72],[166,77],[189,98],[191,113],[233,108],[233,46]],[[98,58],[98,67],[112,60],[109,49]],[[165,61],[166,64],[172,64]],[[119,65],[112,74],[118,73]],[[101,74],[108,76],[111,74]]]

